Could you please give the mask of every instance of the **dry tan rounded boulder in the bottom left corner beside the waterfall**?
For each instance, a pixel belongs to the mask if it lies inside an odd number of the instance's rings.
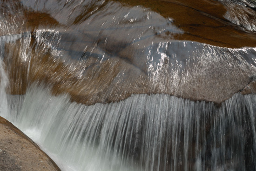
[[[0,171],[60,171],[23,132],[0,117]]]

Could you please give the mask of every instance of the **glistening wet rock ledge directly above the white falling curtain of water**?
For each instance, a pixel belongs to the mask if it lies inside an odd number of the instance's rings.
[[[27,86],[35,82],[50,85],[54,94],[67,92],[74,101],[88,105],[140,93],[221,103],[243,89],[256,72],[255,59],[251,58],[255,48],[229,49],[161,39],[144,42],[142,47],[122,45],[118,40],[88,47],[81,40],[88,48],[77,60],[58,46],[58,42],[67,43],[66,39],[62,41],[62,37],[70,36],[67,33],[62,36],[42,30],[34,35],[5,44],[4,62],[12,94],[25,93]],[[118,51],[111,52],[110,47],[115,46]]]

